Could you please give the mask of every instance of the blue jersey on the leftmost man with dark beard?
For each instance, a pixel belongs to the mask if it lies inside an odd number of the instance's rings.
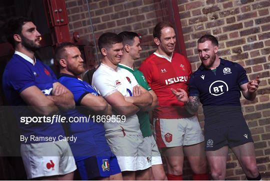
[[[39,60],[36,60],[35,65],[33,65],[21,56],[14,54],[6,65],[2,79],[3,92],[9,104],[14,106],[22,135],[27,137],[30,135],[55,136],[56,138],[58,138],[58,135],[64,135],[60,123],[20,123],[21,116],[43,115],[37,114],[26,107],[27,104],[19,94],[30,86],[36,86],[45,95],[51,95],[52,84],[55,82],[57,82],[57,79],[54,73]],[[27,140],[27,143],[31,142],[29,139]],[[39,141],[34,141],[34,143],[36,142]]]

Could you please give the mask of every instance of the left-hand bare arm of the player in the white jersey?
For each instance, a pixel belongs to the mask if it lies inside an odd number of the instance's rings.
[[[130,116],[139,111],[139,107],[127,102],[119,91],[115,91],[106,96],[105,100],[111,105],[112,109],[120,115]]]

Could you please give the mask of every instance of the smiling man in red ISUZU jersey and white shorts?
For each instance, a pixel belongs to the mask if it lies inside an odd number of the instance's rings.
[[[193,179],[208,179],[206,158],[203,151],[203,135],[197,117],[188,113],[182,102],[177,101],[170,89],[187,91],[191,75],[189,61],[174,52],[176,35],[173,26],[158,23],[153,29],[156,51],[139,67],[159,106],[153,111],[156,144],[163,148],[168,167],[168,180],[181,180],[183,151],[193,170]]]

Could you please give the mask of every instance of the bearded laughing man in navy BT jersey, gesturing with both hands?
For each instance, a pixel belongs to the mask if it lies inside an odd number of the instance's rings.
[[[247,100],[254,100],[259,78],[248,81],[239,64],[219,58],[218,42],[212,35],[197,41],[201,65],[189,82],[189,97],[182,89],[173,90],[176,98],[190,113],[198,109],[204,114],[205,151],[214,180],[224,180],[228,148],[238,159],[248,180],[260,180],[251,133],[244,120],[240,91]]]

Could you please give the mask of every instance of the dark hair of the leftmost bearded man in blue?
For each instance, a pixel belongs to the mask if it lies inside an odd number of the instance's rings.
[[[27,22],[32,21],[25,17],[11,17],[4,24],[3,32],[5,34],[6,40],[12,45],[13,48],[15,48],[15,40],[13,39],[13,35],[21,35],[22,26]]]

